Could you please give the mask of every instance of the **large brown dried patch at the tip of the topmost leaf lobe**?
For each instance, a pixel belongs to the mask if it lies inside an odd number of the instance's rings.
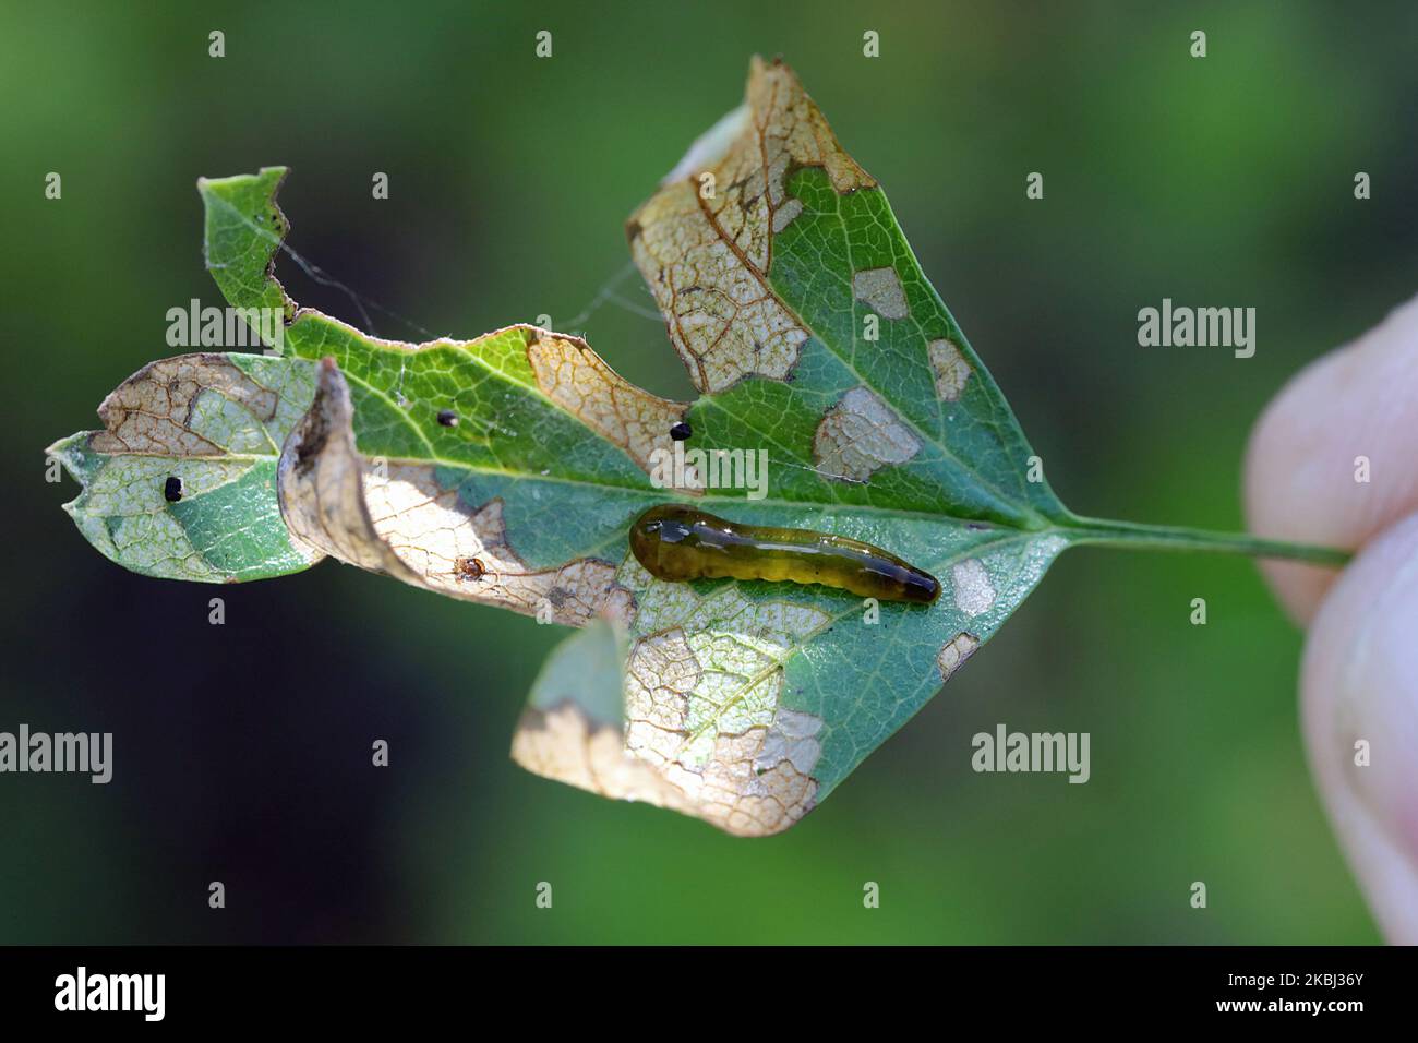
[[[627,226],[702,392],[750,375],[783,380],[797,363],[808,332],[773,294],[769,270],[773,237],[801,213],[786,184],[804,166],[825,170],[839,193],[876,183],[837,143],[793,70],[754,58],[744,106],[695,143]]]

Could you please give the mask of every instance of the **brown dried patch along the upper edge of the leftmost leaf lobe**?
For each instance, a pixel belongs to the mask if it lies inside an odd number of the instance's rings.
[[[275,417],[279,396],[257,385],[225,355],[179,355],[143,366],[98,407],[105,430],[89,444],[99,453],[220,457],[250,451],[240,443],[250,424]],[[228,413],[230,416],[223,416]]]

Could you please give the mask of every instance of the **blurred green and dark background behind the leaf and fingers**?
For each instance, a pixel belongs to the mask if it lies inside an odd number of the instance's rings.
[[[822,807],[746,841],[509,762],[566,631],[333,563],[220,592],[126,575],[60,511],[75,487],[45,484],[41,450],[172,353],[167,308],[218,302],[199,176],[289,165],[292,247],[434,333],[564,325],[623,271],[624,217],[739,102],[749,55],[781,53],[1065,502],[1234,529],[1258,410],[1418,287],[1411,4],[6,0],[0,21],[0,728],[115,732],[108,786],[0,776],[0,942],[1378,938],[1306,772],[1300,634],[1245,561],[1069,552]],[[623,294],[649,305],[638,277]],[[1255,307],[1256,356],[1139,348],[1163,297]],[[581,328],[688,394],[657,322],[611,305]],[[1089,731],[1092,782],[974,775],[970,736],[1000,721]]]

